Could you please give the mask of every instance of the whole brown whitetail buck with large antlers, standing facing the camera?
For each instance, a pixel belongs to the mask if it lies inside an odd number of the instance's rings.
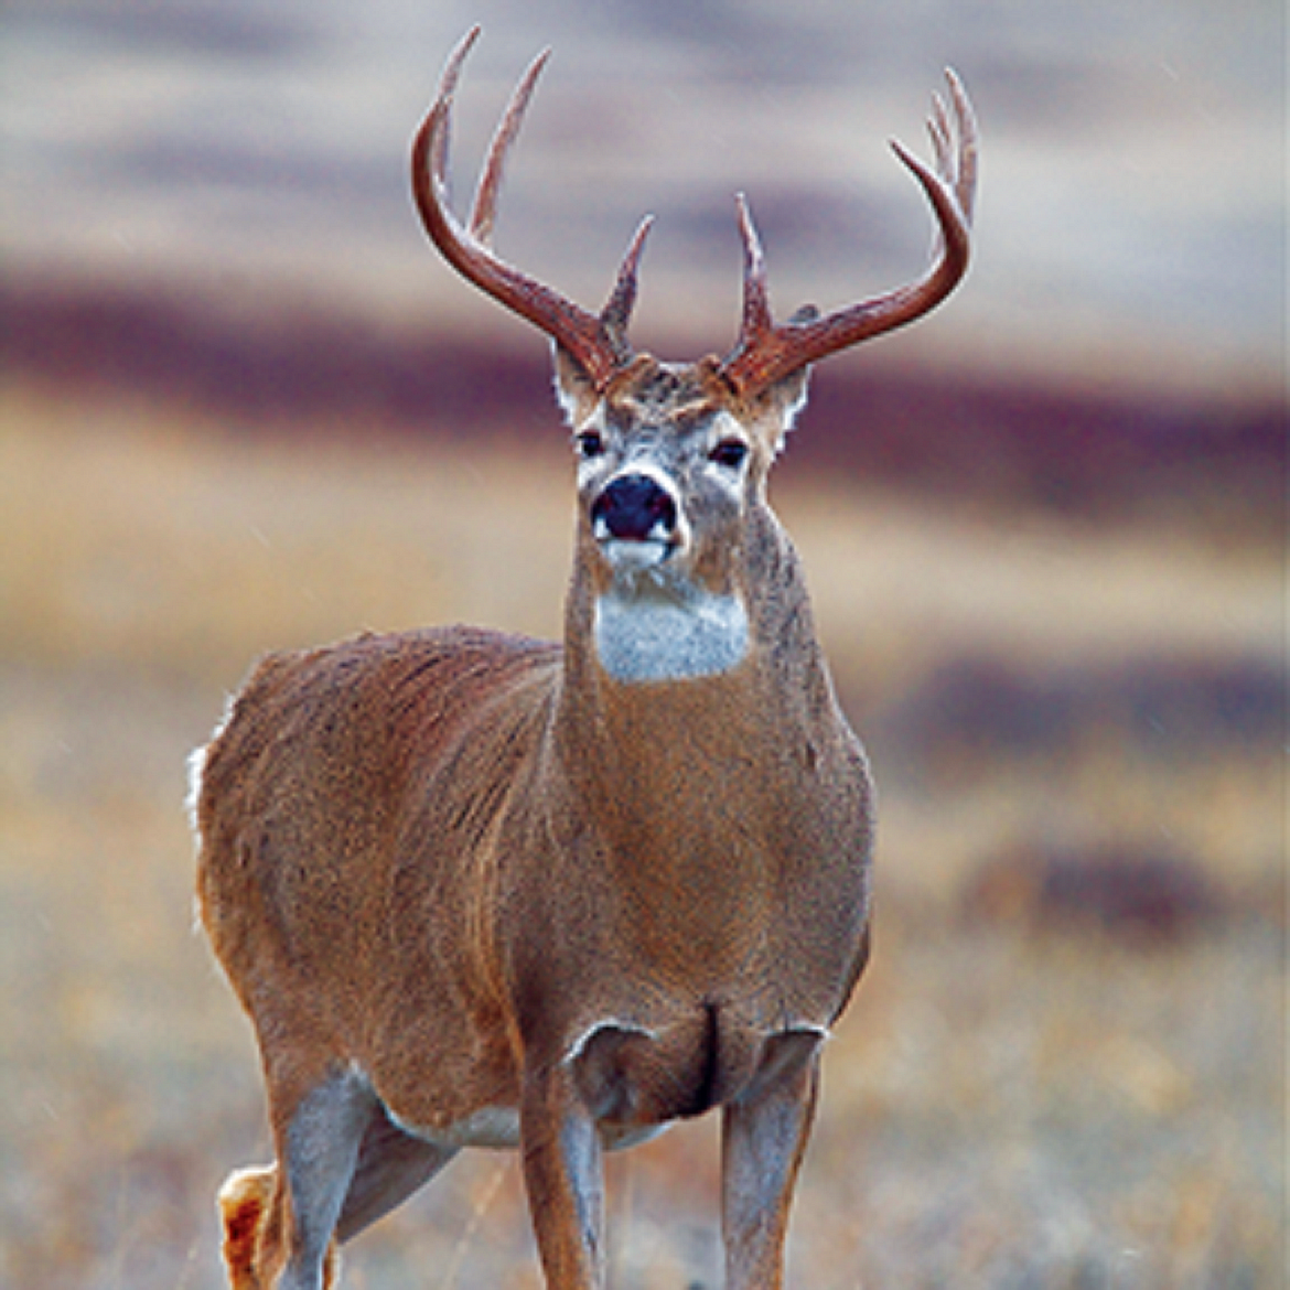
[[[338,1242],[463,1147],[519,1147],[547,1284],[605,1278],[601,1152],[724,1116],[726,1282],[779,1286],[820,1047],[864,965],[872,789],[766,502],[808,364],[962,277],[975,129],[935,101],[939,226],[911,286],[774,322],[739,201],[725,359],[635,353],[641,226],[588,313],[499,259],[543,59],[463,227],[448,62],[417,205],[466,279],[555,341],[578,455],[564,644],[450,627],[261,663],[195,759],[201,916],[250,1014],[277,1162],[221,1193],[233,1286],[316,1290]]]

